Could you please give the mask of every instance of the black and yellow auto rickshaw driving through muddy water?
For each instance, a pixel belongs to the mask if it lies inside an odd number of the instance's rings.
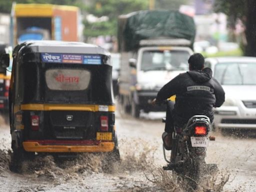
[[[12,170],[35,152],[108,152],[119,158],[110,63],[109,52],[82,42],[28,41],[14,48]]]

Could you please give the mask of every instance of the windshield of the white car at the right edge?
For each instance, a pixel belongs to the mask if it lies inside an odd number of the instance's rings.
[[[223,62],[215,66],[214,77],[223,85],[256,84],[256,62]]]

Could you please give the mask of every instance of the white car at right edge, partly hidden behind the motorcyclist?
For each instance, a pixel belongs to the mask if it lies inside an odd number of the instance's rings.
[[[215,108],[214,126],[256,129],[256,57],[205,59],[225,91],[225,102]]]

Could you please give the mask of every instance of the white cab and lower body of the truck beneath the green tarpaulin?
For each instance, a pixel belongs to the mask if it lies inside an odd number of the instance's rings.
[[[169,45],[141,46],[137,52],[122,53],[119,92],[124,110],[133,117],[139,117],[141,109],[164,111],[164,107],[152,106],[150,101],[164,84],[188,70],[187,60],[192,53],[189,47],[175,46],[171,40]]]

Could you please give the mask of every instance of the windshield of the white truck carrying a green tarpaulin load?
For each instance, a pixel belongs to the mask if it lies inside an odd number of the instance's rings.
[[[189,53],[181,50],[145,50],[141,70],[188,70]]]

